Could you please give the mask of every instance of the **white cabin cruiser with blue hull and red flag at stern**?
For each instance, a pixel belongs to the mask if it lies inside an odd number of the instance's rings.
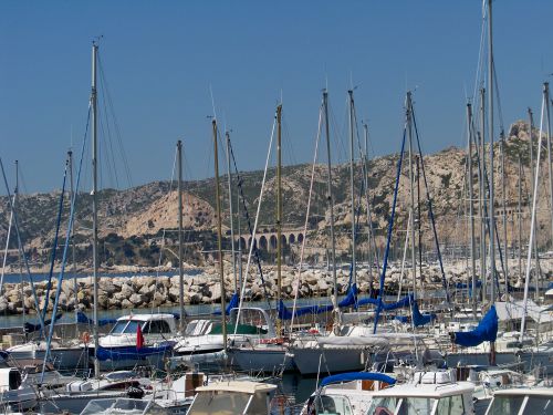
[[[117,319],[112,330],[98,339],[96,357],[102,370],[132,369],[136,365],[164,367],[177,334],[174,314],[129,314]],[[94,356],[94,342],[84,336],[84,349]]]

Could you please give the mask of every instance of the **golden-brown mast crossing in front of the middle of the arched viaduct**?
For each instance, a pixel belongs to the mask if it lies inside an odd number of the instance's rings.
[[[282,104],[276,106],[276,308],[282,290]],[[281,336],[282,321],[276,318],[276,336]]]

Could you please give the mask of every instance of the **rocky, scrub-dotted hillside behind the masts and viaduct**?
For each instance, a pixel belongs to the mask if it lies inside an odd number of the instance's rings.
[[[534,138],[536,133],[534,132]],[[534,139],[535,143],[535,139]],[[534,151],[536,146],[534,144]],[[509,131],[505,141],[505,210],[508,212],[508,238],[510,241],[517,237],[517,206],[519,186],[519,155],[521,157],[522,194],[523,194],[523,240],[528,240],[529,211],[528,194],[530,189],[529,172],[529,134],[528,125],[523,122],[514,123]],[[495,200],[498,215],[498,230],[502,234],[502,181],[500,174],[500,145],[497,144],[495,160]],[[534,153],[535,154],[535,153]],[[377,235],[377,243],[383,245],[387,231],[388,217],[392,210],[394,183],[396,178],[398,155],[378,157],[368,163],[368,198],[373,209],[373,226]],[[466,152],[450,147],[432,155],[424,157],[425,173],[428,181],[429,193],[432,198],[434,214],[438,224],[438,236],[440,242],[448,247],[466,245],[467,238],[467,193],[466,193]],[[302,228],[305,220],[305,211],[311,180],[311,165],[296,165],[283,168],[283,200],[284,200],[284,226],[288,228]],[[415,163],[415,170],[416,163]],[[326,168],[324,165],[315,166],[313,201],[310,215],[309,243],[313,247],[327,246],[328,212],[326,209]],[[428,250],[432,250],[432,234],[428,220],[428,208],[426,203],[426,190],[421,166],[419,165],[420,187],[420,224],[422,242]],[[539,240],[541,245],[546,243],[549,238],[549,178],[546,176],[546,153],[542,153],[542,173],[540,181],[541,198],[539,204]],[[333,167],[333,196],[335,199],[336,234],[338,249],[347,250],[351,238],[351,201],[349,201],[349,166],[337,165]],[[262,172],[240,173],[242,193],[246,206],[249,209],[251,221],[259,203],[259,190],[263,177]],[[356,204],[362,195],[362,183],[364,173],[361,163],[355,169]],[[236,177],[234,177],[236,180]],[[228,188],[226,177],[222,177],[221,186],[223,200],[223,221],[229,225]],[[234,181],[236,183],[236,181]],[[474,184],[478,188],[478,174],[474,168]],[[173,238],[169,245],[175,245],[177,228],[177,194],[175,184],[168,181],[154,181],[147,185],[134,187],[126,190],[104,189],[100,193],[100,237],[103,248],[101,257],[103,262],[111,264],[142,263],[156,264],[159,248],[158,239],[164,235]],[[170,189],[173,189],[170,191]],[[184,196],[185,216],[184,225],[187,229],[186,241],[190,247],[187,250],[190,261],[200,261],[199,252],[208,251],[215,247],[215,180],[212,178],[187,181]],[[275,170],[268,174],[267,189],[261,207],[261,230],[270,230],[274,227],[275,216]],[[477,194],[473,196],[477,198]],[[56,211],[60,193],[21,195],[18,200],[18,211],[21,227],[21,236],[25,247],[31,248],[33,260],[36,264],[48,262],[49,250],[54,237]],[[234,211],[236,194],[233,195]],[[417,200],[417,195],[415,195]],[[396,238],[405,238],[409,206],[409,176],[408,159],[403,163],[403,172],[399,181]],[[361,197],[359,236],[361,247],[366,248],[366,197]],[[65,198],[63,224],[66,224],[69,215],[69,200]],[[82,193],[79,197],[75,224],[75,241],[79,247],[77,260],[83,267],[90,264],[90,239],[91,239],[91,196]],[[6,245],[8,234],[9,206],[7,197],[0,198],[0,246]],[[247,224],[243,219],[242,232],[247,232]],[[64,235],[64,226],[60,235]],[[364,242],[365,241],[365,242]],[[63,242],[63,238],[62,238]],[[364,245],[365,243],[365,245]],[[510,242],[511,243],[511,242]],[[397,246],[401,246],[397,243]],[[10,248],[17,249],[14,238],[10,240]],[[13,253],[13,252],[12,252]],[[111,261],[108,259],[111,258]],[[13,261],[14,255],[11,260]]]

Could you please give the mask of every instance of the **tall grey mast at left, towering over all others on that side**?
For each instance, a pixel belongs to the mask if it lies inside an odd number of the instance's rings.
[[[97,94],[96,94],[96,63],[98,46],[92,43],[92,263],[94,282],[94,326],[92,333],[94,338],[94,375],[100,377],[98,351],[98,214],[97,214]]]

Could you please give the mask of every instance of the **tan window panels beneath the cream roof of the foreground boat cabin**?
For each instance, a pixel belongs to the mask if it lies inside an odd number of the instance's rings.
[[[250,397],[249,394],[237,392],[202,392],[196,396],[188,413],[195,415],[244,414]]]

